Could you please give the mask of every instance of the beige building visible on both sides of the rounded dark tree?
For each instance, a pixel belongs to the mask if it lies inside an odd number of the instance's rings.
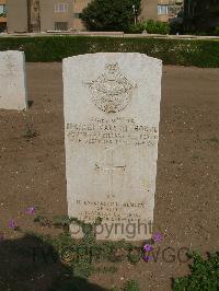
[[[7,0],[8,32],[84,31],[80,14],[90,1]],[[168,22],[170,1],[174,0],[142,0],[139,21]]]

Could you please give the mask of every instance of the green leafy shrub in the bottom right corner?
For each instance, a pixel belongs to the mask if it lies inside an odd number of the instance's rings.
[[[217,291],[219,290],[219,253],[209,254],[204,259],[197,253],[188,254],[193,258],[191,275],[173,280],[174,291]]]

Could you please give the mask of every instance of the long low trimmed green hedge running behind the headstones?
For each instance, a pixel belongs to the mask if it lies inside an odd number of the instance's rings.
[[[37,36],[0,37],[0,50],[24,50],[26,61],[61,61],[93,53],[141,53],[165,65],[219,67],[219,40],[161,39],[143,37]]]

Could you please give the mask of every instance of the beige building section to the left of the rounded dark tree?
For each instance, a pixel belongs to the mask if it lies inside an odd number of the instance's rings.
[[[84,31],[80,14],[91,0],[7,0],[8,32]]]

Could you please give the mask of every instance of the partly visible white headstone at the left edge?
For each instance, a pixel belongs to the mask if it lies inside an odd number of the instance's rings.
[[[25,56],[0,51],[0,109],[26,109]]]

